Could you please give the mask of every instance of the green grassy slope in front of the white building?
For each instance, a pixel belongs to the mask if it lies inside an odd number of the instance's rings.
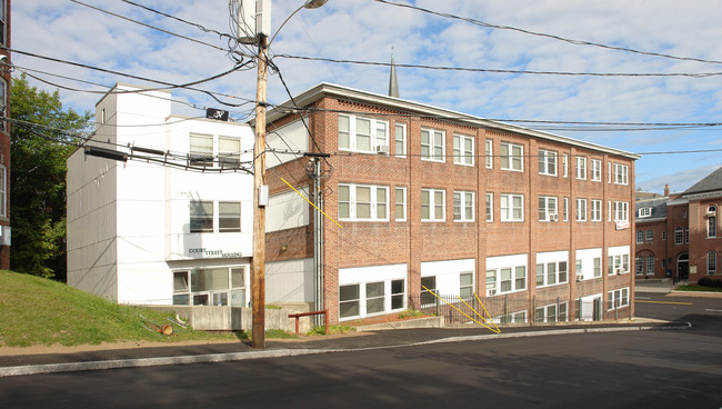
[[[143,326],[169,323],[169,317],[174,315],[119,306],[57,281],[0,271],[0,346],[235,339],[230,333],[183,330],[174,323],[174,335],[166,337]]]

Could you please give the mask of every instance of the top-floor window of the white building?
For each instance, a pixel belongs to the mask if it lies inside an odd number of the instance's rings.
[[[191,133],[189,163],[205,168],[238,168],[241,164],[241,140],[231,137]]]

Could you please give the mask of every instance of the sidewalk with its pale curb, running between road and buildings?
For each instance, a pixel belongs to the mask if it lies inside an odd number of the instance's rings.
[[[391,329],[353,332],[343,336],[305,337],[298,340],[269,339],[265,349],[250,342],[163,346],[153,348],[109,349],[73,353],[0,356],[0,378],[6,376],[51,373],[80,370],[149,367],[160,365],[239,361],[311,353],[343,352],[360,349],[493,340],[552,335],[688,329],[686,322],[668,322],[636,318],[628,322],[514,326],[493,333],[479,326],[461,328]]]

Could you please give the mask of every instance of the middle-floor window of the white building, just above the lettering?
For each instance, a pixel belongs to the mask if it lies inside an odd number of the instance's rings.
[[[190,202],[190,232],[239,232],[241,231],[241,203],[234,201]]]

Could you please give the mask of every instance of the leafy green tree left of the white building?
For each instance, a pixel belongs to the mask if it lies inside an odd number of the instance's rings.
[[[10,88],[10,265],[64,281],[66,159],[91,114],[64,110],[57,90],[30,87],[22,74]]]

